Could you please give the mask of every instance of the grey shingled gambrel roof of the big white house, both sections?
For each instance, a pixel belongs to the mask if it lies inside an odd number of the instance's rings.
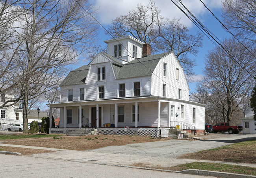
[[[113,63],[115,75],[117,79],[122,79],[152,75],[160,59],[170,53],[171,52],[166,52],[162,54],[141,57],[139,59],[134,59],[124,65],[115,59],[115,57],[110,56],[109,54],[106,55],[115,61],[115,63]],[[76,70],[72,70],[63,80],[61,86],[83,84],[88,74],[88,70],[89,66],[87,65],[79,67]]]

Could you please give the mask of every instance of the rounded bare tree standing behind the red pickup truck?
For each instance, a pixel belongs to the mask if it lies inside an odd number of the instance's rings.
[[[205,79],[202,82],[211,95],[211,99],[223,119],[232,121],[234,113],[241,109],[241,104],[248,101],[247,94],[253,86],[254,58],[234,39],[225,39],[229,54],[215,47],[206,55]],[[214,99],[214,100],[213,100]],[[217,100],[216,100],[217,99]]]

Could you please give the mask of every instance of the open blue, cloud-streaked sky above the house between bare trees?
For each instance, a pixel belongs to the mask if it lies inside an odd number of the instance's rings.
[[[98,22],[102,24],[106,29],[111,24],[111,20],[119,17],[120,15],[126,15],[128,11],[135,10],[136,4],[143,4],[147,6],[150,0],[93,0],[96,7],[98,7]],[[220,19],[221,17],[221,0],[202,0],[204,4]],[[230,37],[221,27],[219,22],[211,15],[211,13],[203,6],[199,0],[182,0],[183,4],[221,41],[224,38]],[[161,9],[161,15],[165,18],[173,19],[173,17],[181,18],[181,22],[189,28],[190,34],[196,34],[200,31],[181,11],[176,7],[171,0],[157,0],[156,6]],[[111,39],[109,35],[105,35],[103,28],[100,28],[100,41],[104,45],[104,40]],[[199,48],[197,56],[191,56],[196,59],[197,66],[194,68],[197,78],[203,76],[202,69],[204,68],[204,58],[209,50],[213,49],[215,44],[204,36],[203,48]],[[82,65],[86,65],[83,63]],[[191,91],[195,88],[195,82],[189,83]]]

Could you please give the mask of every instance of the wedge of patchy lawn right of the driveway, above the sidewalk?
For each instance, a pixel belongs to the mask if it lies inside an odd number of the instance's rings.
[[[202,150],[192,154],[179,156],[186,159],[205,159],[234,163],[256,164],[256,141],[244,141],[232,145]]]

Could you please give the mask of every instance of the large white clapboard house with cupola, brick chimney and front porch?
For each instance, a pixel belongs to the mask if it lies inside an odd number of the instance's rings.
[[[50,115],[52,108],[60,108],[60,128],[102,128],[107,123],[112,128],[104,133],[124,133],[124,126],[130,126],[137,133],[151,128],[158,136],[161,129],[186,124],[203,132],[204,105],[189,101],[186,76],[174,52],[150,55],[150,45],[131,36],[104,42],[108,54],[100,52],[71,71],[61,83],[60,103],[48,104]]]

